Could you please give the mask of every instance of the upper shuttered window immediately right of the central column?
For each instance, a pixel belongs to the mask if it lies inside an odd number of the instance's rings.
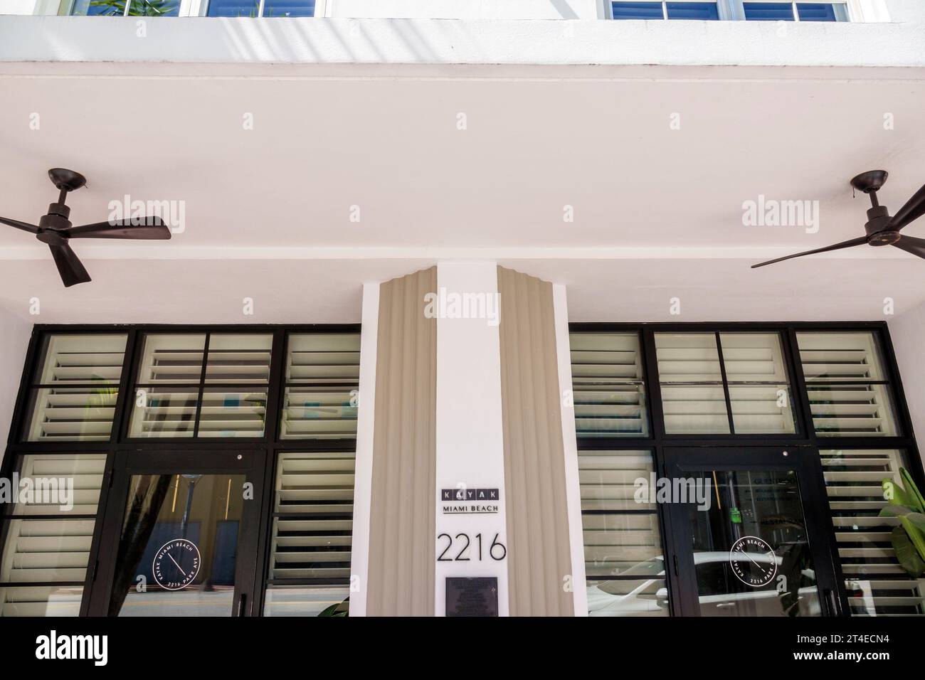
[[[569,338],[577,436],[648,437],[638,334],[574,332]]]

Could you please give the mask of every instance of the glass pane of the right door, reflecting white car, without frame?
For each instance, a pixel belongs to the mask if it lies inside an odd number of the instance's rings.
[[[702,616],[820,616],[796,473],[714,470],[690,510]]]

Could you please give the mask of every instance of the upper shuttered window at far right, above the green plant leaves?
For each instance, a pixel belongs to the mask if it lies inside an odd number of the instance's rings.
[[[873,333],[797,333],[796,340],[817,436],[897,434],[890,384]]]

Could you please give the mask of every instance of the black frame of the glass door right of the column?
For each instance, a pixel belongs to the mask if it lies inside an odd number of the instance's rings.
[[[819,451],[811,446],[765,447],[665,447],[665,475],[669,479],[704,470],[794,470],[807,524],[816,584],[823,615],[843,616],[848,611],[844,578],[838,560],[838,546],[822,483]],[[817,469],[818,468],[818,469]],[[673,609],[675,615],[698,616],[697,574],[691,542],[690,503],[668,503],[670,516],[666,532],[672,555]]]

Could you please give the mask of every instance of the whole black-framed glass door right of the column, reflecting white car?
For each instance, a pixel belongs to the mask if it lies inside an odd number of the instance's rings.
[[[825,488],[814,463],[816,452],[800,447],[665,451],[682,614],[843,611]]]

